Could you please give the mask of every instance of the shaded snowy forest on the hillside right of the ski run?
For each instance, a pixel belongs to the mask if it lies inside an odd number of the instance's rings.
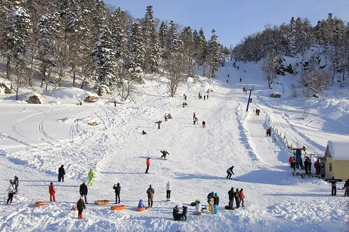
[[[313,52],[315,48],[318,53]],[[313,56],[306,59],[304,55],[309,50]],[[299,73],[301,84],[318,93],[334,83],[337,73],[342,74],[338,81],[344,84],[349,66],[349,23],[333,17],[332,13],[315,26],[306,18],[292,17],[289,24],[267,25],[264,31],[247,36],[234,47],[233,54],[239,61],[257,63],[262,60],[269,88],[272,88],[276,75]],[[285,63],[283,56],[297,57],[300,61],[293,65]],[[328,62],[321,63],[320,56]]]

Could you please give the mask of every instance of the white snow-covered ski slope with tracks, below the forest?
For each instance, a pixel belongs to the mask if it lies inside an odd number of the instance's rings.
[[[214,80],[200,77],[199,82],[182,84],[175,98],[168,97],[165,79],[147,77],[131,102],[117,107],[107,99],[80,106],[75,99],[57,98],[74,89],[45,95],[43,105],[1,95],[0,231],[348,231],[343,191],[331,196],[328,183],[293,177],[288,167],[292,153],[281,138],[286,134],[293,146],[321,154],[328,139],[348,140],[348,90],[296,99],[285,79],[283,97],[273,99],[258,64],[238,65],[239,70],[227,62]],[[243,86],[254,89],[248,112]],[[198,93],[207,89],[212,90],[209,99],[198,100]],[[257,108],[260,116],[253,114]],[[199,125],[193,125],[193,112]],[[163,121],[165,113],[173,119]],[[160,130],[155,124],[159,120]],[[88,125],[91,121],[98,125]],[[272,137],[265,136],[272,124],[281,137],[274,130]],[[163,149],[170,153],[167,161],[159,160]],[[144,173],[147,157],[149,174]],[[64,183],[57,182],[61,164],[67,173]],[[232,165],[237,180],[225,178]],[[80,220],[70,208],[79,199],[79,185],[87,180],[89,169],[96,178]],[[8,180],[15,175],[20,193],[8,206]],[[168,180],[171,201],[165,199]],[[51,181],[57,188],[56,203],[48,201]],[[94,205],[101,199],[114,202],[114,183],[121,184],[121,203],[127,209]],[[155,189],[154,208],[136,212],[140,199],[147,202],[150,184]],[[224,209],[231,187],[244,189],[246,207]],[[193,215],[189,204],[200,199],[207,206],[206,196],[212,191],[221,198],[219,214]],[[35,208],[35,201],[48,202]],[[187,222],[173,221],[175,205],[188,206]]]

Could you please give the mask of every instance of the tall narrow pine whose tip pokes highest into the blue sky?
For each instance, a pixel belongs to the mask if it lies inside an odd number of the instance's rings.
[[[143,21],[144,72],[158,72],[160,50],[158,34],[154,24],[153,7],[147,6]]]

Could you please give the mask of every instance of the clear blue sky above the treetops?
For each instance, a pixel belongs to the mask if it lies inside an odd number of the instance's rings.
[[[289,24],[292,16],[308,18],[315,25],[332,12],[334,17],[349,21],[348,0],[105,0],[105,3],[121,7],[135,18],[144,17],[147,6],[153,6],[154,17],[173,20],[193,29],[204,29],[209,38],[216,29],[218,41],[224,46],[236,45],[245,36],[262,31],[266,25]]]

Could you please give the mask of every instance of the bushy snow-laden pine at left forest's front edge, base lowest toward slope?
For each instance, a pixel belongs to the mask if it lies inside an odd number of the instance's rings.
[[[118,65],[113,47],[110,30],[104,26],[92,51],[94,64],[97,67],[95,88],[98,90],[98,95],[112,93],[114,86],[117,85]]]

